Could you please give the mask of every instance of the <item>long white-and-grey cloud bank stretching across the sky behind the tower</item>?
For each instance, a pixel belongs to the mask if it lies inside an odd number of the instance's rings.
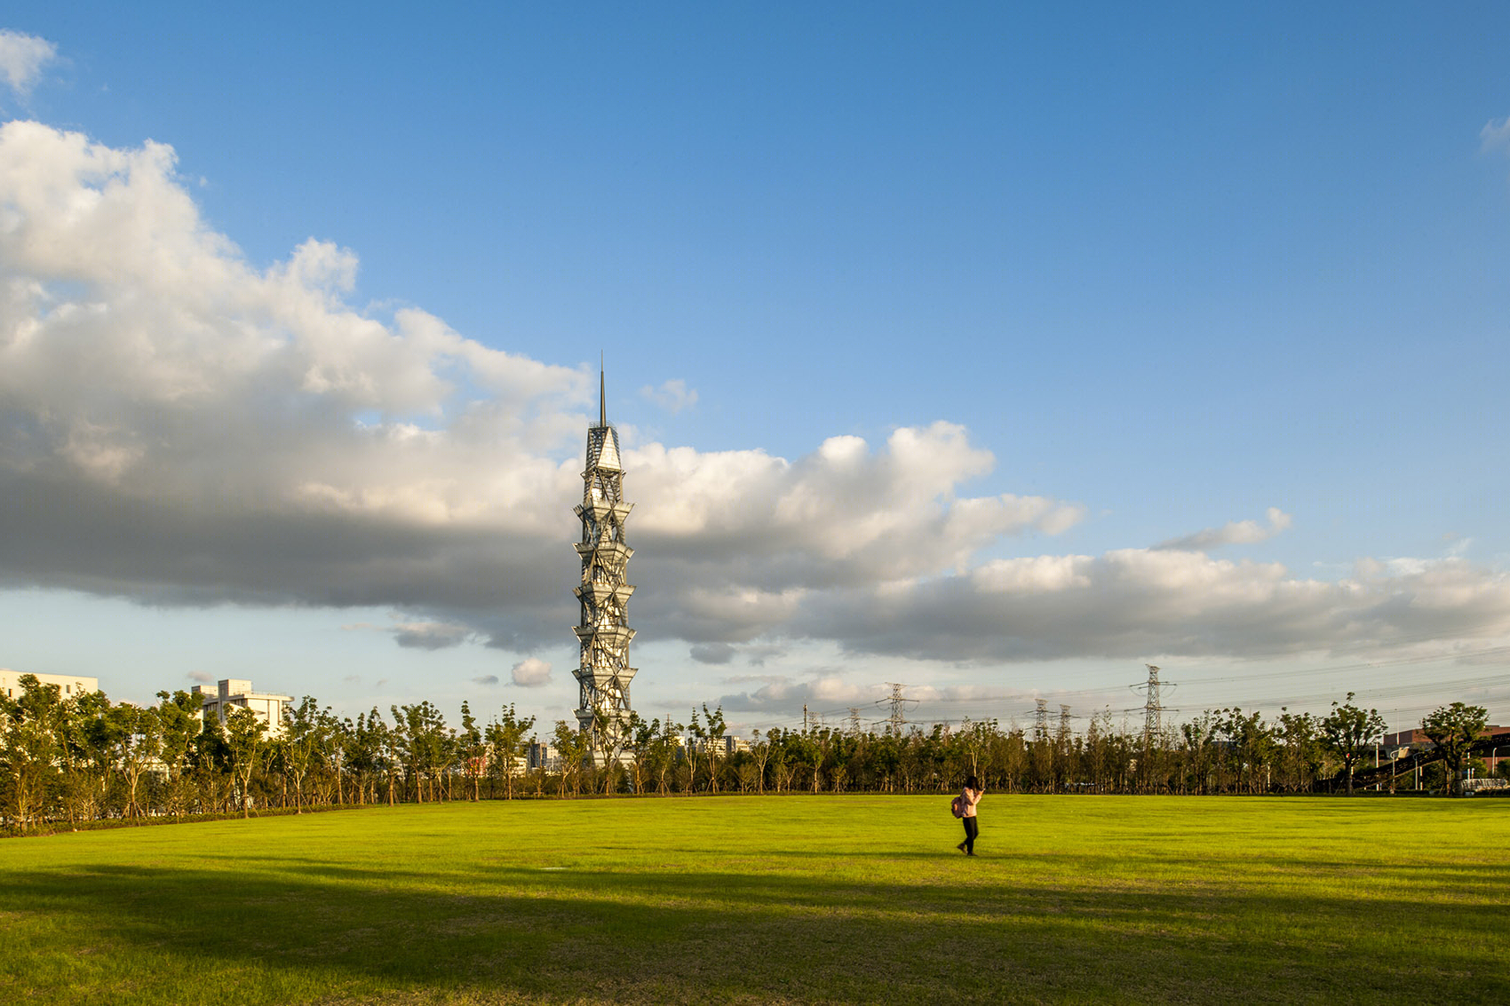
[[[0,585],[385,606],[403,646],[560,645],[595,375],[358,310],[356,269],[316,239],[248,263],[165,145],[0,125]],[[1462,559],[1327,582],[1206,554],[1282,532],[1277,509],[1154,548],[983,557],[1086,511],[965,494],[995,459],[951,423],[796,459],[625,447],[634,624],[702,663],[794,640],[1012,662],[1510,633],[1510,583]],[[530,660],[516,684],[548,680]]]

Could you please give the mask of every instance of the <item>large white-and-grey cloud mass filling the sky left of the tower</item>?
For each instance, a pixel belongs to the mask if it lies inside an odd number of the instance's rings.
[[[0,488],[45,500],[0,539],[0,579],[559,625],[541,574],[580,483],[551,452],[589,375],[368,317],[343,299],[355,270],[317,240],[252,267],[168,147],[0,125]]]

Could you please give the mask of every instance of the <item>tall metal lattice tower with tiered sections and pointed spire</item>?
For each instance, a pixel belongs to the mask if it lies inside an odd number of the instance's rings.
[[[602,372],[598,372],[598,424],[587,429],[587,467],[581,473],[581,586],[572,594],[581,601],[577,642],[581,666],[572,675],[581,684],[577,722],[592,739],[592,751],[604,764],[618,761],[630,721],[630,595],[627,582],[634,550],[624,541],[624,521],[633,505],[624,501],[624,468],[619,462],[619,430],[609,426]]]

